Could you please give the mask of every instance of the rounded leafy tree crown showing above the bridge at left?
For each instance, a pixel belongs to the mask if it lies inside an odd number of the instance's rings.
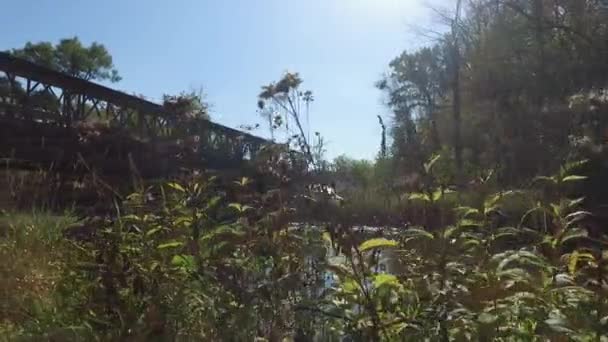
[[[10,53],[32,63],[51,68],[87,81],[120,81],[112,56],[103,44],[84,46],[78,39],[62,39],[56,45],[50,42],[28,42],[23,48]]]

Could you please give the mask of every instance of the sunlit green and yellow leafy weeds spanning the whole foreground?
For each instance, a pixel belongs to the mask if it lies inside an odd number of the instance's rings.
[[[425,219],[398,229],[294,224],[295,194],[259,193],[249,178],[195,175],[147,188],[91,238],[24,239],[54,242],[60,253],[47,258],[59,276],[35,318],[9,317],[2,329],[101,340],[589,341],[608,333],[608,240],[587,230],[582,200],[534,188],[457,200],[435,174],[440,161],[424,163],[422,188],[407,196]],[[553,178],[582,179],[572,171],[580,165]],[[517,214],[514,201],[529,207]],[[14,236],[3,241],[20,241]]]

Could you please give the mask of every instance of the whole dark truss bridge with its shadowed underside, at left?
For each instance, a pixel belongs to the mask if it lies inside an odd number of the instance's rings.
[[[11,167],[82,162],[159,177],[179,166],[236,169],[269,141],[0,53],[0,158]]]

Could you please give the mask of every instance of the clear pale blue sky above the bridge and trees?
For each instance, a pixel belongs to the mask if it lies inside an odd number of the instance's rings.
[[[260,123],[260,87],[285,71],[312,90],[311,131],[327,157],[376,156],[390,119],[374,87],[391,59],[428,40],[424,0],[3,0],[0,50],[78,36],[106,46],[122,81],[111,87],[160,102],[203,88],[211,117]]]

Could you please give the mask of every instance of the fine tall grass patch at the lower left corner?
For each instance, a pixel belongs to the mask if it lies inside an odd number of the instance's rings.
[[[43,323],[61,272],[58,242],[74,222],[70,213],[0,211],[0,340]]]

